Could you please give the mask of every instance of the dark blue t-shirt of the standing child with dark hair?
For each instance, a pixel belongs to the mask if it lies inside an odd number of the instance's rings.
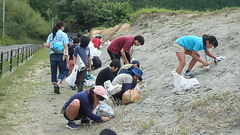
[[[77,54],[81,57],[83,63],[88,66],[88,56],[90,56],[90,49],[89,47],[83,48],[81,46],[77,46],[74,49],[74,56],[77,56]]]

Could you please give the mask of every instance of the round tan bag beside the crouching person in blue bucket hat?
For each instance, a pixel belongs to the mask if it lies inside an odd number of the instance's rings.
[[[137,90],[127,90],[122,95],[123,104],[134,103],[140,98],[140,94]]]

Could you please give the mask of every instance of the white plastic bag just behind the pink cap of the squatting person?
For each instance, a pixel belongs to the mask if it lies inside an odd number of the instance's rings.
[[[112,96],[122,90],[122,85],[112,85],[110,80],[104,82],[104,88],[107,91],[108,96]]]

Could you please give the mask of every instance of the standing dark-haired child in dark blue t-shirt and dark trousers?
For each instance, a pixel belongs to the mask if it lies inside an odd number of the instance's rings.
[[[76,78],[75,84],[78,88],[78,92],[83,90],[87,70],[89,72],[91,71],[90,49],[88,47],[90,38],[87,36],[82,36],[80,38],[80,42],[81,42],[80,45],[77,46],[74,50],[74,57],[73,57],[74,65],[76,64],[76,61],[77,61],[77,55],[79,55],[87,68],[85,68],[82,71],[78,71],[78,73],[77,73],[77,78]]]

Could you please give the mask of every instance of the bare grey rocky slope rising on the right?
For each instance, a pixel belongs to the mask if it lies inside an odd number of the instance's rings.
[[[202,15],[153,13],[138,18],[121,35],[145,37],[143,46],[134,47],[134,58],[141,62],[147,86],[142,101],[126,106],[121,122],[113,129],[133,134],[235,134],[239,131],[239,18],[239,10]],[[200,85],[180,95],[173,94],[171,71],[178,65],[172,47],[175,39],[205,33],[217,37],[219,46],[211,51],[226,56],[226,60],[212,65],[210,71],[195,68]],[[203,52],[200,53],[204,59]],[[102,59],[108,62],[106,52]]]

